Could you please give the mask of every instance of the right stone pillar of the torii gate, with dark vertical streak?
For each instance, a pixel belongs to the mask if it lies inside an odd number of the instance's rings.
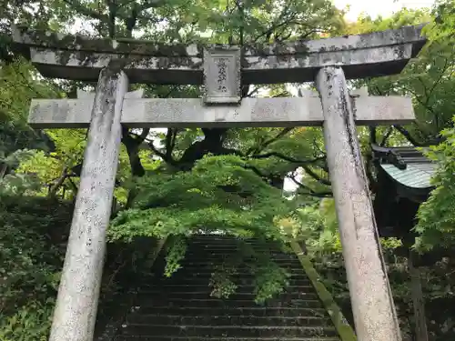
[[[343,70],[320,69],[316,84],[356,334],[359,341],[400,341]]]

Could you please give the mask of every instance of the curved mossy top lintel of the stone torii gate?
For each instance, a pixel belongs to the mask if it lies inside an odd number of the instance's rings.
[[[347,78],[399,74],[426,43],[423,25],[365,35],[241,47],[243,84],[302,83],[320,67],[341,66]],[[123,58],[130,83],[202,85],[205,48],[230,45],[160,45],[133,39],[15,28],[15,48],[46,77],[96,81],[112,58]]]

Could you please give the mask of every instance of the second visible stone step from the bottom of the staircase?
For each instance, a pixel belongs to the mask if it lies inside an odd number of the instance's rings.
[[[329,317],[258,317],[258,316],[163,316],[157,314],[131,314],[126,325],[166,325],[166,326],[328,326]]]

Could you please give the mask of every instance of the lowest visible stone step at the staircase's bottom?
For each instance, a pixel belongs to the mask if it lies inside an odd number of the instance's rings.
[[[125,325],[124,325],[125,326]],[[189,337],[317,337],[337,336],[329,326],[168,326],[131,325],[125,326],[122,335],[131,336],[189,336]]]

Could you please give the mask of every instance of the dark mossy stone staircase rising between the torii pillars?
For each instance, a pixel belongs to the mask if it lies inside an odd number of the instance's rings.
[[[253,248],[261,247],[254,240]],[[258,245],[257,245],[258,244]],[[236,240],[227,236],[195,236],[189,240],[182,268],[173,276],[146,276],[136,302],[117,329],[116,341],[339,341],[336,328],[319,301],[298,257],[278,247],[273,259],[286,267],[289,286],[265,305],[255,303],[254,277],[241,274],[228,299],[210,296],[214,265],[232,256]],[[164,258],[155,274],[162,274]]]

